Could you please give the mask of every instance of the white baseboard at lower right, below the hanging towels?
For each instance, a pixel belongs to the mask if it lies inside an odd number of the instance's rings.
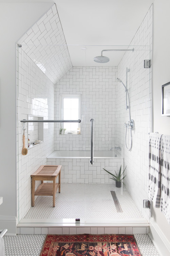
[[[170,242],[153,218],[150,219],[150,231],[148,235],[160,256],[170,256]]]

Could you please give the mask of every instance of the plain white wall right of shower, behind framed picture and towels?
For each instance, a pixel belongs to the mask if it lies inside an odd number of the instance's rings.
[[[170,117],[161,116],[162,85],[170,82],[170,1],[155,0],[153,10],[153,131],[170,135]],[[170,242],[170,225],[160,209],[153,208],[153,218]]]

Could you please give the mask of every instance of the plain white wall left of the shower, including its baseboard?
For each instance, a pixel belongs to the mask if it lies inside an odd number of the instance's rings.
[[[0,227],[16,233],[16,47],[15,42],[51,3],[0,4]],[[9,222],[10,221],[10,222]]]

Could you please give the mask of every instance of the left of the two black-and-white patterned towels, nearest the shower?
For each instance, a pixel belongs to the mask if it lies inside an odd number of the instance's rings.
[[[148,198],[156,208],[160,207],[160,144],[162,134],[150,133]]]

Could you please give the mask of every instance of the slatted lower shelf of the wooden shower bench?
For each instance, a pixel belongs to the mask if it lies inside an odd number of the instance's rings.
[[[57,191],[59,183],[55,183],[55,191]],[[59,192],[60,193],[60,192]],[[35,191],[35,196],[53,196],[53,183],[42,183]]]

